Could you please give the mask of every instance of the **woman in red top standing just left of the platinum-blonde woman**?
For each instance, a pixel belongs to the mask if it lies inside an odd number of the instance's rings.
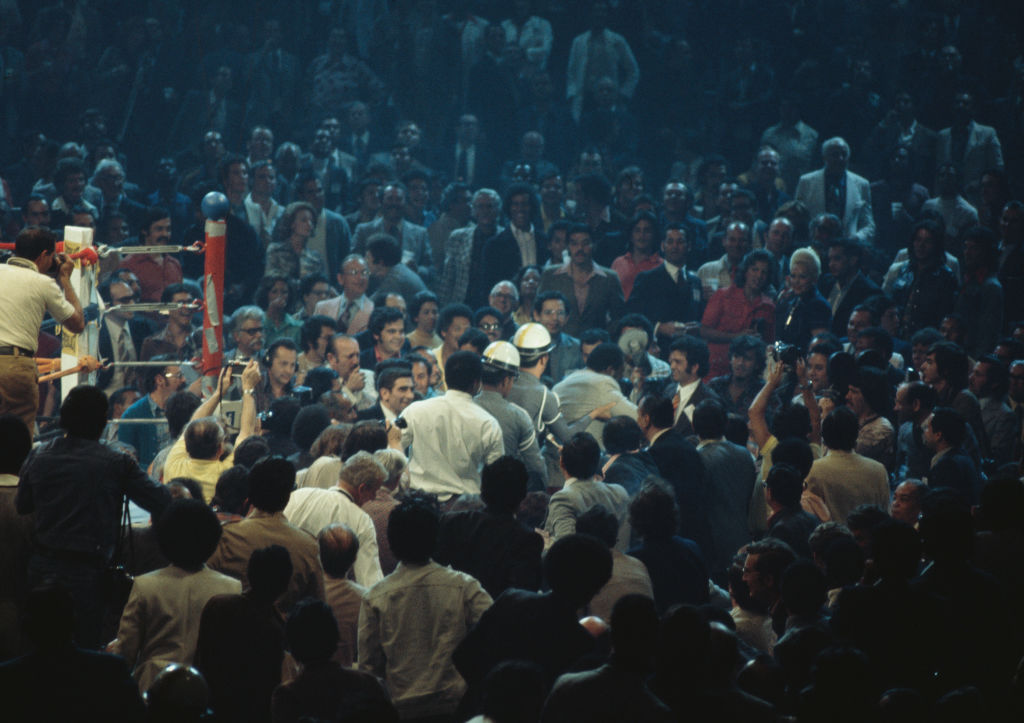
[[[708,378],[729,373],[729,342],[741,335],[775,340],[775,303],[765,288],[771,279],[771,252],[757,249],[743,257],[735,284],[712,295],[700,320],[700,336],[708,341],[711,369]]]

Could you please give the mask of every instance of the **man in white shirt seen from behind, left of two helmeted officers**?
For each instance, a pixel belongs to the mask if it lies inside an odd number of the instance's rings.
[[[498,420],[473,402],[482,373],[478,354],[456,351],[444,364],[444,395],[413,402],[401,416],[401,444],[412,448],[411,485],[442,502],[478,495],[480,470],[505,454]]]

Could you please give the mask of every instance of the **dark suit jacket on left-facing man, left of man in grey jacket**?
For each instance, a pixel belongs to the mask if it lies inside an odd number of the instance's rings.
[[[675,429],[662,434],[647,452],[662,477],[676,493],[680,536],[695,542],[707,558],[711,553],[711,527],[708,525],[708,480],[700,454]]]

